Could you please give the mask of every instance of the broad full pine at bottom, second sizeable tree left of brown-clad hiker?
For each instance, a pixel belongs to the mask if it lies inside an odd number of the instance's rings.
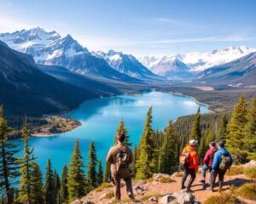
[[[85,178],[84,178],[84,163],[79,140],[77,139],[74,146],[73,156],[69,164],[67,173],[67,190],[69,202],[80,198],[84,195]]]

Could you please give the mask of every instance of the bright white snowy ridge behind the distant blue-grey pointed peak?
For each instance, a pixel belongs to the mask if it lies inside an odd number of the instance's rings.
[[[176,54],[160,58],[154,56],[145,56],[139,58],[139,60],[143,63],[143,65],[147,66],[154,73],[160,72],[157,71],[157,65],[161,65],[163,62],[165,62],[166,66],[161,66],[159,69],[167,70],[168,65],[166,61],[169,61],[170,64],[172,64],[175,59],[179,59],[184,64],[186,64],[189,68],[189,71],[200,72],[212,66],[228,63],[234,59],[241,58],[255,51],[256,48],[246,48],[245,46],[241,46],[239,48],[228,47],[223,49],[216,49],[206,53],[191,53],[183,55]],[[170,67],[172,67],[172,65],[170,65]]]

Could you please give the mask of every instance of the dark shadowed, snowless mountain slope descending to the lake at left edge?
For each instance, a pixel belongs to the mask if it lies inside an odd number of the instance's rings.
[[[0,42],[0,104],[8,115],[41,116],[69,111],[91,97],[95,94],[89,89],[44,74],[30,55]]]

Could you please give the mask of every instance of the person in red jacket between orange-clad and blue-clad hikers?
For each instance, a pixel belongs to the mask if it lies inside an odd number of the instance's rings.
[[[213,156],[216,151],[216,143],[214,141],[210,142],[209,149],[203,159],[203,166],[201,167],[201,179],[199,180],[201,184],[206,184],[207,170],[209,170],[210,173],[212,172]]]

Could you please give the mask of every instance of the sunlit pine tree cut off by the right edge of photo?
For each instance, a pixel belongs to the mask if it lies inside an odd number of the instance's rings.
[[[252,107],[248,111],[244,132],[245,150],[247,150],[248,158],[256,160],[256,97],[253,98]]]

